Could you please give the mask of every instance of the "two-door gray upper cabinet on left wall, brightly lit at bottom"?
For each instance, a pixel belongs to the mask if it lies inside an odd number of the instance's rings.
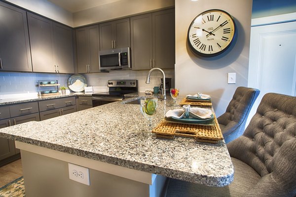
[[[28,12],[34,72],[74,73],[72,29]]]

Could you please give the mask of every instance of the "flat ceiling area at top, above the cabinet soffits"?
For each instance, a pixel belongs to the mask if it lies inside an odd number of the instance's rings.
[[[119,0],[48,0],[72,13]]]

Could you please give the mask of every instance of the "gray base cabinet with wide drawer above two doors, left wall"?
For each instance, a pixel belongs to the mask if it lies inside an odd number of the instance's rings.
[[[39,101],[40,120],[70,114],[76,111],[76,98],[50,99]]]

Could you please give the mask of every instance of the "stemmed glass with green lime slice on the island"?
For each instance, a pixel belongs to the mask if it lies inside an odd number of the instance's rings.
[[[141,107],[140,110],[145,118],[148,120],[149,131],[152,131],[152,116],[156,113],[156,109],[158,106],[157,98],[142,98],[141,99]]]

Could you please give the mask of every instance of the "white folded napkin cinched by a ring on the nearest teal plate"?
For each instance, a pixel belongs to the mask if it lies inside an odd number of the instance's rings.
[[[212,117],[212,110],[211,109],[205,109],[205,108],[199,108],[199,107],[190,107],[189,109],[189,118],[197,118],[197,119],[209,119]],[[167,118],[177,118],[181,119],[185,116],[185,110],[184,109],[174,109],[169,110],[166,112],[165,116]]]

